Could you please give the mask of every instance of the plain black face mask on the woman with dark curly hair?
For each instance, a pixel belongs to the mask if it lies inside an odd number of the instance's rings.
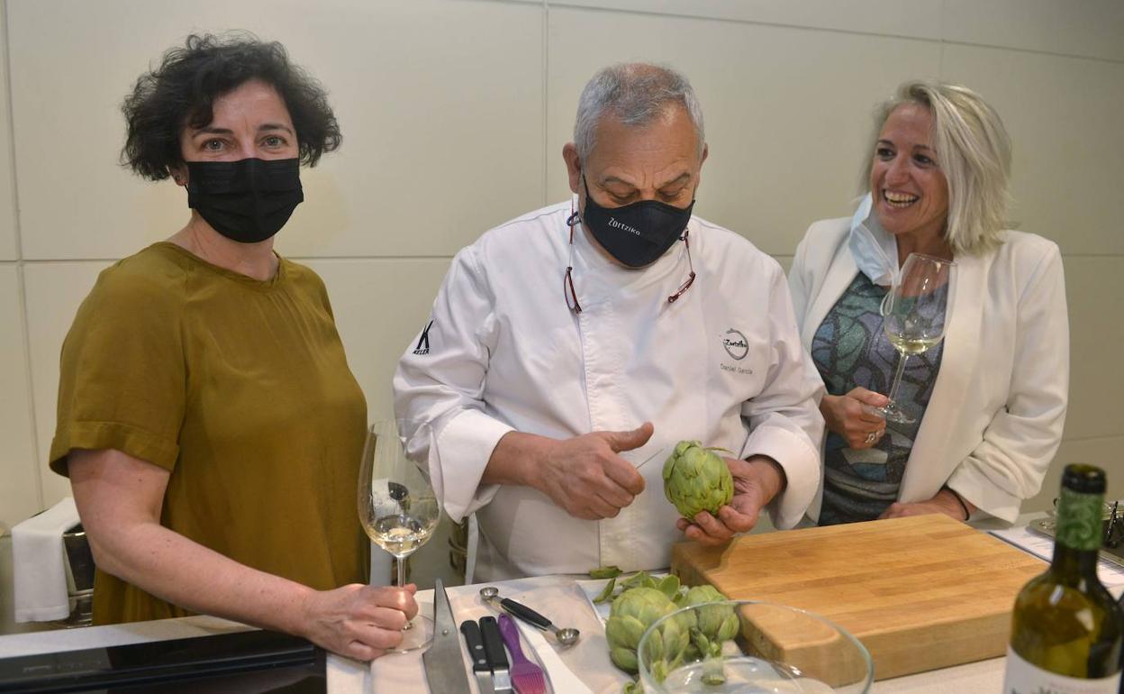
[[[265,241],[305,199],[296,159],[187,164],[188,207],[232,241]]]

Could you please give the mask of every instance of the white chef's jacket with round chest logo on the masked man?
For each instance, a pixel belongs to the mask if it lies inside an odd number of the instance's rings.
[[[795,525],[819,485],[823,382],[800,345],[780,265],[692,217],[697,277],[671,303],[690,272],[683,242],[632,270],[579,224],[572,277],[582,310],[573,313],[563,277],[575,205],[508,222],[457,253],[395,375],[396,416],[427,425],[404,435],[427,456],[445,511],[454,521],[477,513],[475,577],[669,566],[682,535],[662,468],[680,440],[777,460],[788,484],[769,511],[778,528]],[[645,421],[651,440],[620,454],[646,488],[614,519],[575,519],[531,487],[480,481],[509,431],[568,439]]]

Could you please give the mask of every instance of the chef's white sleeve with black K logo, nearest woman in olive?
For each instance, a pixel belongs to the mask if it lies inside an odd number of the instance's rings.
[[[493,306],[477,247],[469,246],[453,259],[429,319],[395,371],[395,416],[414,423],[399,433],[410,457],[427,461],[434,493],[454,522],[496,495],[499,486],[480,478],[513,431],[483,402],[496,346]]]

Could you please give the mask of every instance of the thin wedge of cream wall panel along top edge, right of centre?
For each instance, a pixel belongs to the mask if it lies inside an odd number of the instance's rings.
[[[941,33],[941,4],[930,0],[547,0],[547,4],[919,38],[940,38]]]

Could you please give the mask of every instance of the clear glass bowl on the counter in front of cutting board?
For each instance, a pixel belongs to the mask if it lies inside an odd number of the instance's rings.
[[[720,645],[707,638],[731,628]],[[759,601],[677,610],[644,632],[637,656],[646,694],[864,694],[874,681],[870,654],[845,629]]]

